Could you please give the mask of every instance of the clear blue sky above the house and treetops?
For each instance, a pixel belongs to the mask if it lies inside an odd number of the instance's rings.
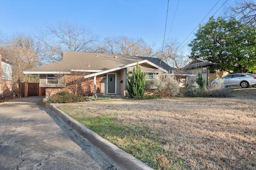
[[[220,16],[224,6],[218,9],[225,1],[170,0],[165,39],[182,43],[217,2],[202,24],[217,11],[214,16]],[[16,32],[36,34],[50,22],[76,21],[101,39],[119,35],[141,37],[149,45],[161,47],[167,4],[168,0],[0,0],[0,31],[7,36]],[[180,47],[192,36],[193,33]],[[187,45],[182,51],[188,53]]]

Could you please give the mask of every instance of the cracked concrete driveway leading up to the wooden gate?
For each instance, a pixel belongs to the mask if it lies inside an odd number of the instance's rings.
[[[119,170],[120,168],[42,105],[43,97],[0,105],[1,170]]]

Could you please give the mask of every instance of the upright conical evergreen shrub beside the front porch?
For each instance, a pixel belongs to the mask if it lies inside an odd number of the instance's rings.
[[[127,91],[131,98],[142,97],[146,85],[146,73],[141,71],[140,65],[137,63],[132,70],[132,74],[127,71]]]

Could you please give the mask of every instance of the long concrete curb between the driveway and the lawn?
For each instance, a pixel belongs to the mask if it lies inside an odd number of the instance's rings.
[[[94,131],[86,128],[84,125],[74,120],[64,111],[58,109],[49,103],[43,102],[45,107],[52,110],[58,117],[60,117],[67,125],[77,131],[80,135],[90,141],[98,149],[102,150],[113,162],[124,170],[153,170],[150,166],[144,164],[131,154],[118,148],[116,145],[110,143],[106,139],[100,137]]]

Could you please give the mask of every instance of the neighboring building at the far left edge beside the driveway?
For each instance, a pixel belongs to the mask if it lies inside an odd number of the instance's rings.
[[[0,97],[3,98],[12,94],[12,67],[2,55],[0,55],[0,60]]]

